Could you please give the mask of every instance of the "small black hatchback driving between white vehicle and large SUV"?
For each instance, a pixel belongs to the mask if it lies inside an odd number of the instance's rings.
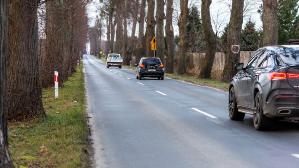
[[[144,77],[164,79],[164,68],[160,58],[141,58],[136,68],[136,79],[141,80]]]

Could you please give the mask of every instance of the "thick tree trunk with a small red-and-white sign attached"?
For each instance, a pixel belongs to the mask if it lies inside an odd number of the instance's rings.
[[[225,52],[225,65],[222,81],[229,82],[237,73],[234,65],[240,60],[240,52],[233,53],[232,45],[241,45],[241,31],[243,24],[244,0],[233,0],[231,17],[227,29],[227,43]],[[239,47],[240,48],[240,47]]]

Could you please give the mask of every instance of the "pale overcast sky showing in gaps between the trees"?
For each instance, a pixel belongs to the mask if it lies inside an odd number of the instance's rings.
[[[89,25],[93,26],[94,22],[95,22],[95,18],[97,15],[97,11],[100,7],[100,3],[98,2],[99,0],[94,0],[93,2],[90,3],[90,5],[88,6],[88,15],[89,15]],[[176,2],[175,2],[176,1]],[[179,15],[179,4],[178,4],[179,0],[174,0],[174,11],[173,12],[173,26],[175,29],[175,35],[178,34],[178,26],[176,23],[176,19],[177,15]],[[249,3],[248,5],[248,12],[246,12],[245,17],[244,17],[244,21],[243,21],[243,27],[245,25],[245,23],[248,21],[249,18],[251,18],[251,20],[256,22],[256,28],[260,28],[262,26],[262,21],[260,19],[260,13],[258,13],[258,9],[260,4],[262,3],[262,0],[245,0],[245,5],[247,3]],[[223,28],[226,26],[226,24],[229,23],[229,19],[230,19],[230,7],[229,7],[229,2],[231,3],[231,0],[212,0],[212,4],[210,6],[210,12],[211,12],[211,19],[212,19],[212,25],[214,26],[214,32],[216,32],[216,27],[217,31],[219,34],[221,34]],[[189,0],[189,6],[190,5],[196,5],[199,10],[200,10],[200,5],[201,5],[201,0]],[[165,6],[166,8],[166,6]],[[217,17],[218,16],[218,17]],[[216,24],[218,23],[218,24]],[[106,26],[104,26],[106,27]],[[128,26],[128,34],[131,34],[131,28],[132,25]],[[137,25],[138,27],[138,25]],[[146,26],[145,26],[146,28]],[[106,30],[104,30],[106,32]],[[102,37],[102,40],[106,40],[106,33],[103,34],[104,36]],[[136,31],[136,35],[138,35],[138,30]]]

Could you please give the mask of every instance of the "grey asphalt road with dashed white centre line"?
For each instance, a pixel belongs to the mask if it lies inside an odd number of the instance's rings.
[[[96,168],[299,168],[299,123],[231,121],[228,93],[84,55]]]

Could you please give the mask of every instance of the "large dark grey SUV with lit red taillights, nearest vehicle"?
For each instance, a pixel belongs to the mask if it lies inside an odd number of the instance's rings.
[[[257,50],[229,87],[229,117],[253,115],[256,130],[271,129],[275,120],[299,121],[299,45]]]

